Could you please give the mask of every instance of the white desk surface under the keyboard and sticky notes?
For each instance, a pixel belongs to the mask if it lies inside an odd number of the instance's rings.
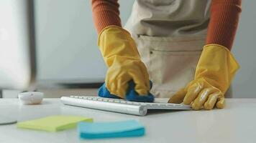
[[[225,109],[211,111],[155,112],[145,117],[70,107],[59,99],[44,99],[41,105],[20,106],[17,99],[0,99],[0,114],[18,121],[53,114],[92,117],[95,122],[137,119],[145,125],[144,137],[81,140],[76,129],[42,132],[0,126],[0,142],[256,142],[256,99],[227,99]]]

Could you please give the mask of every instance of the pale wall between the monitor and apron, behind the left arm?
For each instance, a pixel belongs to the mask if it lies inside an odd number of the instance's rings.
[[[133,1],[120,1],[123,23]],[[90,0],[36,0],[38,78],[104,81]]]

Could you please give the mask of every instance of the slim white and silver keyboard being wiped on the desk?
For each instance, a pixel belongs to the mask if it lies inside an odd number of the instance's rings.
[[[70,96],[61,97],[63,104],[76,107],[86,107],[100,109],[109,112],[119,112],[124,114],[135,114],[145,116],[147,109],[191,109],[189,105],[170,103],[150,103],[150,102],[129,102],[124,99],[110,99],[102,97]]]

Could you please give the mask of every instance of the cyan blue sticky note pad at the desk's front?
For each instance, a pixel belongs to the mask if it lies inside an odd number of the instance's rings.
[[[136,120],[122,122],[80,122],[78,134],[83,139],[109,137],[140,137],[145,134],[145,127]]]

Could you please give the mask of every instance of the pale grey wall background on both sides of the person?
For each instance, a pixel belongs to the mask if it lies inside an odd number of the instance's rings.
[[[119,0],[124,24],[133,0]],[[104,79],[106,66],[96,46],[89,0],[36,0],[39,79]],[[233,82],[234,97],[256,97],[256,1],[242,1],[234,56],[241,69]]]

